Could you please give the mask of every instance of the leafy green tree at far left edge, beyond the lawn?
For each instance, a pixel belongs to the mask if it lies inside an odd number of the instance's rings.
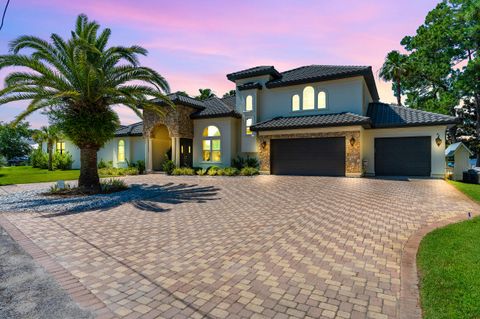
[[[18,123],[16,126],[0,122],[0,156],[8,160],[30,153],[31,147],[27,142],[30,137],[29,124]]]

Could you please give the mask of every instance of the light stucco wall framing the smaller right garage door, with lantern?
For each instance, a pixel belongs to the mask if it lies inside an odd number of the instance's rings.
[[[364,160],[368,161],[365,173],[367,175],[375,174],[375,138],[430,136],[432,156],[431,176],[443,177],[445,174],[445,130],[446,126],[424,126],[363,130],[361,138],[362,157]],[[437,146],[437,144],[435,143],[437,133],[442,139],[442,144],[440,146]]]

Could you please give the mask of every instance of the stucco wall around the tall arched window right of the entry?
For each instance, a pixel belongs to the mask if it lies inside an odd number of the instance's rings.
[[[232,117],[194,120],[193,166],[203,168],[210,166],[230,166],[232,157],[237,155],[238,122],[239,119]],[[221,162],[204,162],[202,159],[202,134],[203,130],[209,125],[214,125],[220,130]]]

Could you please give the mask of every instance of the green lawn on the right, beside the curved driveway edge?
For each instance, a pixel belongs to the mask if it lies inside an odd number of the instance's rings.
[[[449,183],[480,202],[480,185]],[[479,217],[425,236],[417,265],[424,318],[480,318]]]

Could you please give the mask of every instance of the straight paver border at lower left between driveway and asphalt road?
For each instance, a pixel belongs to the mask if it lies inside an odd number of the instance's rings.
[[[43,249],[31,241],[21,230],[0,215],[2,227],[32,258],[58,282],[58,284],[80,306],[95,312],[97,319],[113,318],[114,314],[107,306],[88,290],[69,271],[48,255]]]

